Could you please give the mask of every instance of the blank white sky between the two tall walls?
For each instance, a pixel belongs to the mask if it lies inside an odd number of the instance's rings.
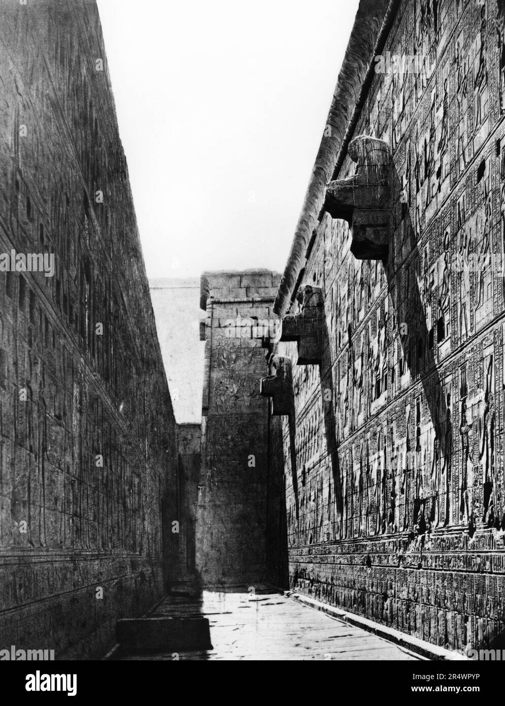
[[[97,4],[147,275],[282,272],[358,0]]]

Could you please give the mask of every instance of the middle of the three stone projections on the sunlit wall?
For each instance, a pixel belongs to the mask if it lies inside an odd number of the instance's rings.
[[[282,318],[281,341],[298,342],[298,365],[317,365],[322,359],[324,301],[320,287],[303,285],[296,300],[298,313]]]

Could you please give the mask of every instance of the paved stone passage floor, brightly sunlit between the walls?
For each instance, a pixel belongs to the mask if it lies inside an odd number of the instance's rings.
[[[206,590],[197,599],[167,597],[153,615],[197,614],[209,618],[213,650],[132,654],[122,659],[422,659],[279,593]]]

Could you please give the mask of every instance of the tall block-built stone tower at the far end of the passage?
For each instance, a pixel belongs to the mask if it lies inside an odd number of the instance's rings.
[[[281,524],[281,484],[273,479],[269,493],[269,400],[260,396],[278,324],[272,313],[278,284],[279,275],[268,270],[202,275],[207,321],[197,569],[206,585],[254,585],[270,570],[279,573],[275,560],[267,567],[267,542],[280,556],[271,535]],[[282,477],[279,465],[275,471]]]

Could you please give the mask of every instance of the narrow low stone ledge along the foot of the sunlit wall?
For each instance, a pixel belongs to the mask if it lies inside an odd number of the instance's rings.
[[[407,633],[401,633],[400,630],[395,630],[394,628],[381,625],[380,623],[376,623],[368,618],[358,616],[355,613],[349,613],[348,611],[343,611],[335,606],[329,606],[328,604],[316,601],[313,598],[309,598],[308,596],[304,596],[303,594],[295,591],[283,591],[283,593],[285,596],[297,601],[298,603],[303,603],[309,608],[322,611],[333,618],[338,618],[339,620],[349,623],[357,628],[363,628],[363,630],[367,630],[369,633],[373,633],[379,638],[384,638],[384,640],[394,642],[395,645],[405,647],[406,650],[420,654],[422,657],[426,657],[427,659],[463,662],[471,661],[468,657],[464,657],[464,655],[459,652],[453,652],[451,650],[446,650],[445,647],[432,645],[431,642],[420,640],[419,638],[415,638],[413,635],[407,635]]]

